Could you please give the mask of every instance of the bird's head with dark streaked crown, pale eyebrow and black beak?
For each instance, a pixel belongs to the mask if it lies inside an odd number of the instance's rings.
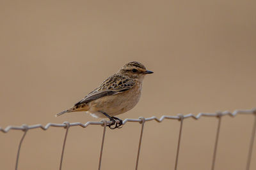
[[[118,71],[120,74],[124,74],[129,78],[136,78],[138,80],[143,80],[145,74],[152,74],[153,71],[148,71],[143,64],[137,61],[128,62],[122,69]]]

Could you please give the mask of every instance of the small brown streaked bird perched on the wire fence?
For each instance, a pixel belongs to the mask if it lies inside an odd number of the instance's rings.
[[[123,121],[115,116],[136,106],[140,100],[143,79],[146,74],[152,73],[140,62],[128,62],[81,101],[56,114],[56,117],[64,113],[86,111],[95,118],[109,118],[112,122],[108,124],[110,129],[121,128]]]

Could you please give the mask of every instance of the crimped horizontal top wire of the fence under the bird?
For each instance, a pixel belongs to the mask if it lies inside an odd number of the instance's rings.
[[[157,117],[149,117],[149,118],[145,118],[145,122],[151,121],[151,120],[156,120],[156,122],[162,122],[164,119],[174,119],[174,120],[180,120],[180,118],[194,118],[195,120],[199,119],[200,117],[221,117],[221,116],[225,116],[225,115],[229,115],[230,117],[235,117],[237,114],[256,114],[256,108],[253,108],[252,110],[235,110],[233,112],[230,111],[218,111],[216,113],[198,113],[198,115],[193,115],[192,113],[189,113],[188,115],[182,115],[182,114],[178,114],[177,116],[166,116],[163,115],[161,118],[157,118]],[[118,120],[116,120],[117,122]],[[143,120],[144,121],[144,120]],[[127,122],[142,122],[141,118],[125,118],[125,120],[123,121],[123,125],[126,124]],[[107,125],[111,124],[112,121],[107,121]],[[49,123],[47,125],[41,125],[41,124],[36,124],[36,125],[21,125],[21,126],[12,126],[9,125],[7,126],[5,129],[0,127],[0,131],[1,132],[8,132],[11,129],[12,130],[21,130],[21,131],[28,131],[28,129],[36,129],[36,128],[41,128],[44,131],[49,129],[49,127],[67,127],[67,124],[69,125],[69,127],[72,126],[81,126],[81,127],[88,127],[88,125],[104,125],[104,121],[101,122],[86,122],[86,124],[82,124],[80,122],[76,122],[76,123],[68,123],[68,122],[64,122],[63,124],[52,124]]]

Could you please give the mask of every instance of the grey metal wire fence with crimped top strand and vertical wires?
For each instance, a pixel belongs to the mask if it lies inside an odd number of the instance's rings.
[[[212,155],[212,165],[211,165],[211,170],[214,170],[214,166],[215,166],[215,162],[216,162],[216,155],[217,155],[217,148],[218,148],[218,141],[219,141],[219,134],[220,134],[220,127],[221,127],[221,118],[225,115],[229,115],[230,117],[235,117],[237,114],[254,115],[252,136],[250,138],[250,145],[249,145],[249,149],[248,149],[248,156],[247,156],[247,162],[246,162],[246,167],[245,167],[246,170],[250,170],[250,162],[252,160],[252,152],[253,152],[253,143],[254,143],[255,133],[256,133],[256,108],[252,109],[252,110],[235,110],[234,112],[223,111],[223,112],[216,112],[216,113],[198,113],[198,115],[193,115],[192,113],[190,113],[188,115],[178,114],[177,116],[166,116],[166,115],[164,115],[161,118],[156,118],[156,117],[150,117],[150,118],[140,117],[138,119],[126,118],[123,121],[123,125],[125,125],[127,122],[138,122],[138,123],[141,124],[141,132],[140,132],[140,139],[139,139],[139,143],[138,143],[138,153],[137,153],[137,157],[136,157],[135,169],[136,170],[138,169],[138,164],[139,164],[139,159],[140,159],[141,141],[142,141],[142,138],[143,138],[143,129],[144,129],[144,124],[146,122],[156,120],[156,122],[160,123],[160,122],[163,122],[164,119],[171,119],[171,120],[179,120],[180,121],[179,138],[178,138],[177,153],[176,153],[175,166],[174,166],[174,169],[177,170],[178,169],[178,162],[179,162],[178,160],[179,160],[180,141],[181,141],[181,137],[182,137],[182,126],[183,126],[184,120],[186,118],[194,118],[195,120],[198,120],[201,117],[216,117],[216,118],[218,118],[218,127],[217,127],[217,131],[216,131],[216,138],[215,138],[215,143],[214,143],[214,151],[213,151],[213,155]],[[116,121],[118,121],[118,120],[116,120]],[[65,144],[66,144],[66,140],[67,140],[67,136],[68,136],[68,129],[70,127],[74,127],[74,126],[80,126],[80,127],[85,128],[85,127],[88,127],[88,125],[101,125],[103,127],[103,134],[102,134],[102,143],[101,143],[101,148],[100,148],[99,166],[98,166],[98,169],[100,170],[101,161],[102,161],[102,153],[103,153],[103,149],[104,149],[104,139],[105,139],[105,136],[106,136],[106,127],[107,127],[107,125],[109,125],[111,123],[112,123],[112,121],[102,120],[100,122],[87,122],[86,124],[81,124],[79,122],[77,122],[77,123],[64,122],[63,124],[49,123],[45,126],[43,126],[41,124],[21,125],[21,126],[8,126],[5,129],[0,127],[0,131],[3,132],[3,133],[7,133],[10,130],[20,130],[20,131],[24,132],[22,138],[20,139],[20,143],[19,143],[18,150],[17,150],[17,158],[16,158],[16,163],[15,163],[15,170],[17,170],[18,169],[18,163],[19,163],[20,148],[22,146],[22,142],[23,142],[24,138],[26,137],[27,132],[30,129],[41,128],[42,130],[46,131],[47,129],[49,129],[49,127],[63,127],[63,128],[65,128],[66,132],[65,132],[65,137],[64,137],[64,140],[63,140],[63,147],[62,147],[61,159],[60,159],[60,170],[61,170],[64,151],[65,151]]]

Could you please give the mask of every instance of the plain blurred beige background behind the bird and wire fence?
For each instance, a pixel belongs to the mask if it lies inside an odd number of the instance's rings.
[[[0,1],[0,126],[100,121],[54,115],[126,62],[154,71],[120,118],[256,106],[256,1]],[[225,117],[216,169],[245,168],[253,116]],[[179,169],[210,169],[216,118],[188,119]],[[173,169],[179,122],[148,122],[139,169]],[[19,169],[58,169],[65,130],[28,132]],[[106,131],[102,169],[134,169],[140,124]],[[0,132],[0,169],[14,169],[21,131]],[[72,127],[63,169],[97,169],[102,127]],[[256,143],[255,143],[256,145]],[[256,169],[256,147],[252,168]]]

